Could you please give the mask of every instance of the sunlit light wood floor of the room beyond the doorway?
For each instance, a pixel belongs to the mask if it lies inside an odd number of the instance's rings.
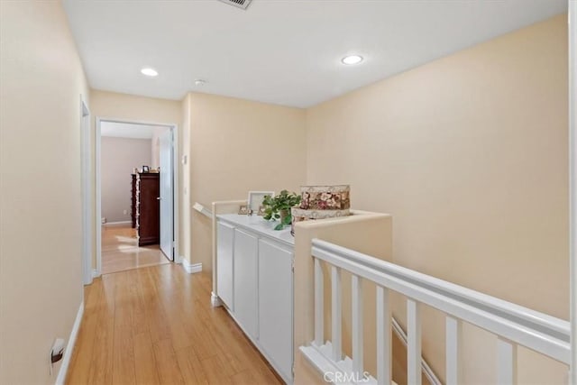
[[[169,263],[158,244],[138,247],[130,225],[102,226],[102,273]]]

